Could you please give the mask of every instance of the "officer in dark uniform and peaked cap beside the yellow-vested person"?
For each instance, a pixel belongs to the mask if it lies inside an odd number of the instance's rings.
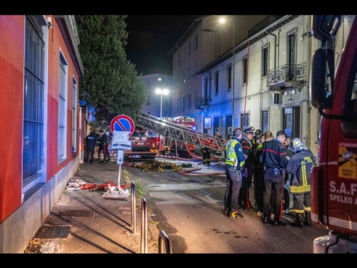
[[[238,204],[241,207],[243,207],[243,209],[248,209],[248,210],[254,210],[249,198],[249,188],[250,185],[252,185],[253,170],[254,170],[254,154],[252,148],[254,130],[255,128],[253,126],[244,130],[245,137],[241,141],[243,154],[246,154],[248,158],[246,159],[246,164],[244,165],[243,181],[242,181],[241,193],[239,194],[240,200],[238,200]]]

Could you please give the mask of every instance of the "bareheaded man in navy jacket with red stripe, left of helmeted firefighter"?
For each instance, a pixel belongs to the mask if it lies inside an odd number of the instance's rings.
[[[272,188],[275,196],[273,200],[274,219],[273,226],[285,226],[282,222],[282,197],[284,193],[285,168],[288,160],[286,159],[286,147],[284,141],[286,133],[284,130],[277,132],[276,138],[265,142],[260,156],[260,162],[264,164],[264,195],[263,195],[263,224],[270,221]]]

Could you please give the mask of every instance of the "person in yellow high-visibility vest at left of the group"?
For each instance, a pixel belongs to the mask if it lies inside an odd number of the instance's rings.
[[[224,194],[224,215],[231,218],[243,218],[238,210],[239,190],[242,185],[242,169],[247,156],[243,154],[241,138],[243,130],[234,128],[233,136],[226,142],[226,193]]]

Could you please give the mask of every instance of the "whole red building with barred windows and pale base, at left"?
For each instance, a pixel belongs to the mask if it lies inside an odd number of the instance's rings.
[[[0,252],[22,253],[78,170],[83,64],[74,16],[0,16],[0,39]]]

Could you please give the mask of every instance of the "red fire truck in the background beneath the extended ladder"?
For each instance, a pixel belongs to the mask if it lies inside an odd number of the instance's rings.
[[[159,120],[159,118],[157,118]],[[173,123],[178,128],[192,130],[195,126],[194,118],[180,116],[165,118],[162,121]],[[135,126],[129,138],[131,150],[124,151],[124,160],[155,159],[155,157],[183,157],[188,158],[195,151],[195,145],[188,142],[177,141],[164,133],[154,132],[145,126]]]

